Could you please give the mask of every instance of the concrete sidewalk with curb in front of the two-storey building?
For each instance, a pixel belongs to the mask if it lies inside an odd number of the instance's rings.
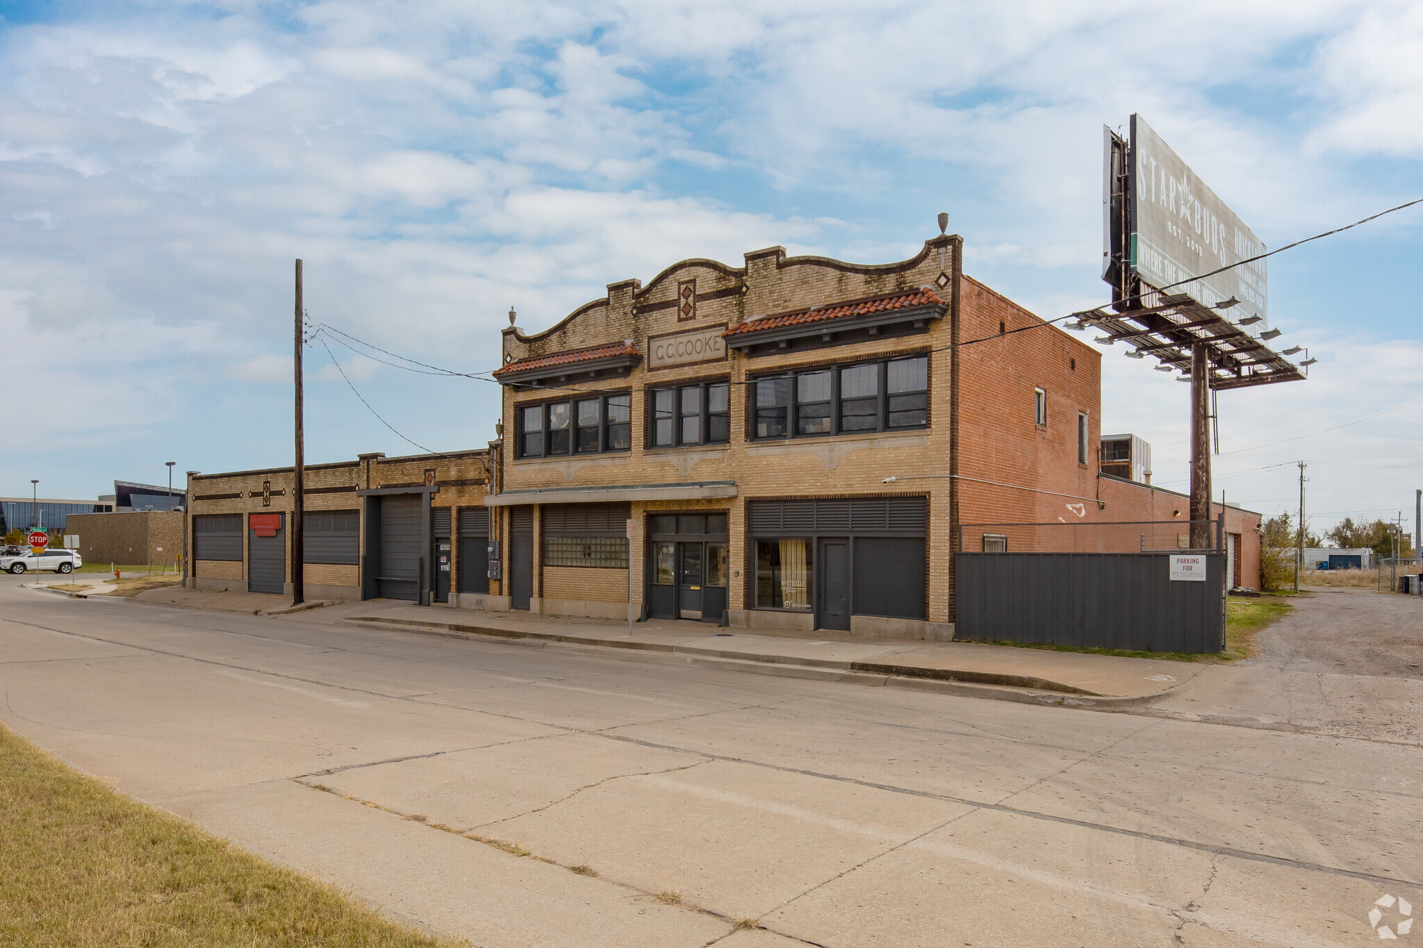
[[[444,635],[487,635],[645,657],[710,664],[737,671],[891,685],[959,695],[1050,704],[1123,705],[1160,699],[1194,678],[1204,665],[1116,655],[1060,652],[978,642],[864,640],[817,632],[760,635],[700,623],[647,621],[633,631],[618,623],[465,613],[418,605],[367,603],[346,623]]]

